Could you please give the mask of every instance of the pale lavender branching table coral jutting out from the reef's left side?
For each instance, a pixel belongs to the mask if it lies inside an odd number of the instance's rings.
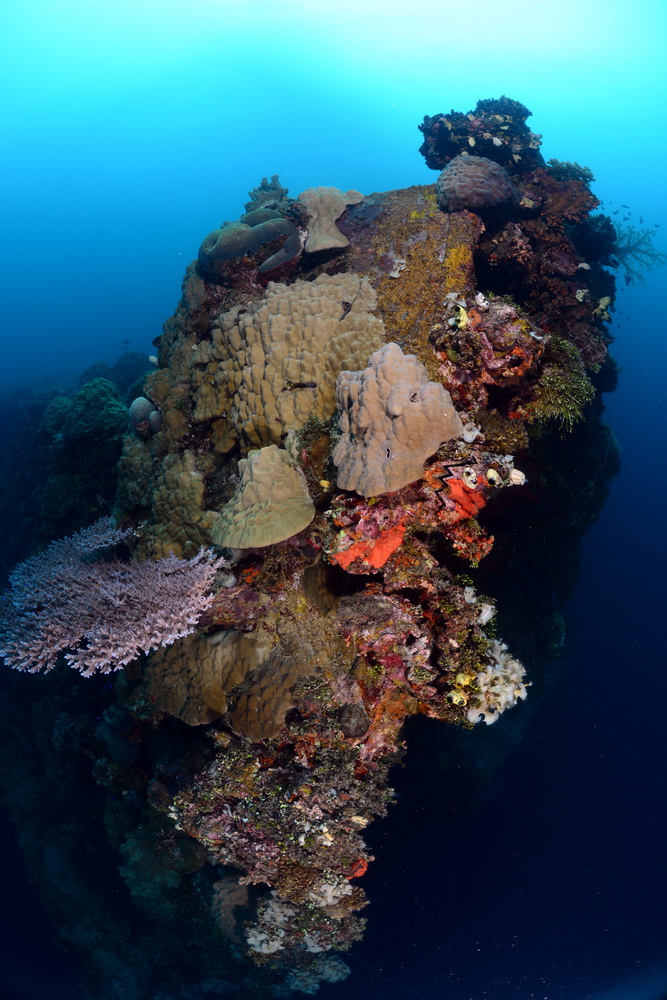
[[[103,518],[16,567],[0,598],[0,656],[10,667],[51,670],[68,649],[67,662],[89,677],[194,631],[223,560],[205,549],[189,560],[103,558],[126,536]]]

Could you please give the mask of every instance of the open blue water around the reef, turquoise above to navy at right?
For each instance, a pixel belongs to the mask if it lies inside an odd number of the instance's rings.
[[[152,353],[203,235],[261,177],[292,195],[430,183],[417,125],[479,98],[525,103],[545,158],[589,166],[604,210],[627,203],[667,250],[660,0],[6,0],[0,45],[7,396],[76,384],[125,339]],[[474,809],[415,734],[371,830],[367,936],[323,998],[667,997],[666,288],[656,270],[617,300],[622,469],[584,541],[567,655],[514,743],[498,724],[505,762]],[[76,997],[27,893],[0,982]]]

